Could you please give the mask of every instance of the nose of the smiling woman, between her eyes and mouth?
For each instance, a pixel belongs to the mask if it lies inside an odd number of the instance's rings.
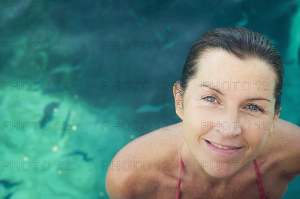
[[[219,113],[219,120],[213,124],[215,131],[218,131],[225,138],[232,138],[242,132],[240,114],[238,110],[223,109]]]

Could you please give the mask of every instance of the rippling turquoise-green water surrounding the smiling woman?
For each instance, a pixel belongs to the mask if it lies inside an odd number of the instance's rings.
[[[179,122],[172,85],[216,27],[271,39],[285,67],[280,118],[300,125],[299,1],[0,3],[1,199],[106,199],[118,150]]]

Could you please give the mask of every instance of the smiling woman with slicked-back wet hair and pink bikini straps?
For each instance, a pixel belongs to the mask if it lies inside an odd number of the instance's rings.
[[[280,198],[300,170],[299,127],[278,119],[283,66],[269,40],[217,28],[174,84],[182,122],[141,136],[110,163],[110,198]]]

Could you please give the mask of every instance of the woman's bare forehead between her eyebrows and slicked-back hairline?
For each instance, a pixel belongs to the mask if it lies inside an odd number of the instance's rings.
[[[204,52],[196,67],[195,78],[201,81],[239,81],[249,82],[251,86],[265,82],[269,88],[275,84],[275,73],[268,64],[258,58],[241,60],[225,50]]]

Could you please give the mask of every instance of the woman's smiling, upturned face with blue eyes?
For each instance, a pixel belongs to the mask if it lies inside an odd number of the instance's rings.
[[[197,68],[176,113],[191,155],[210,176],[226,178],[252,167],[272,132],[275,73],[224,50],[205,52]]]

